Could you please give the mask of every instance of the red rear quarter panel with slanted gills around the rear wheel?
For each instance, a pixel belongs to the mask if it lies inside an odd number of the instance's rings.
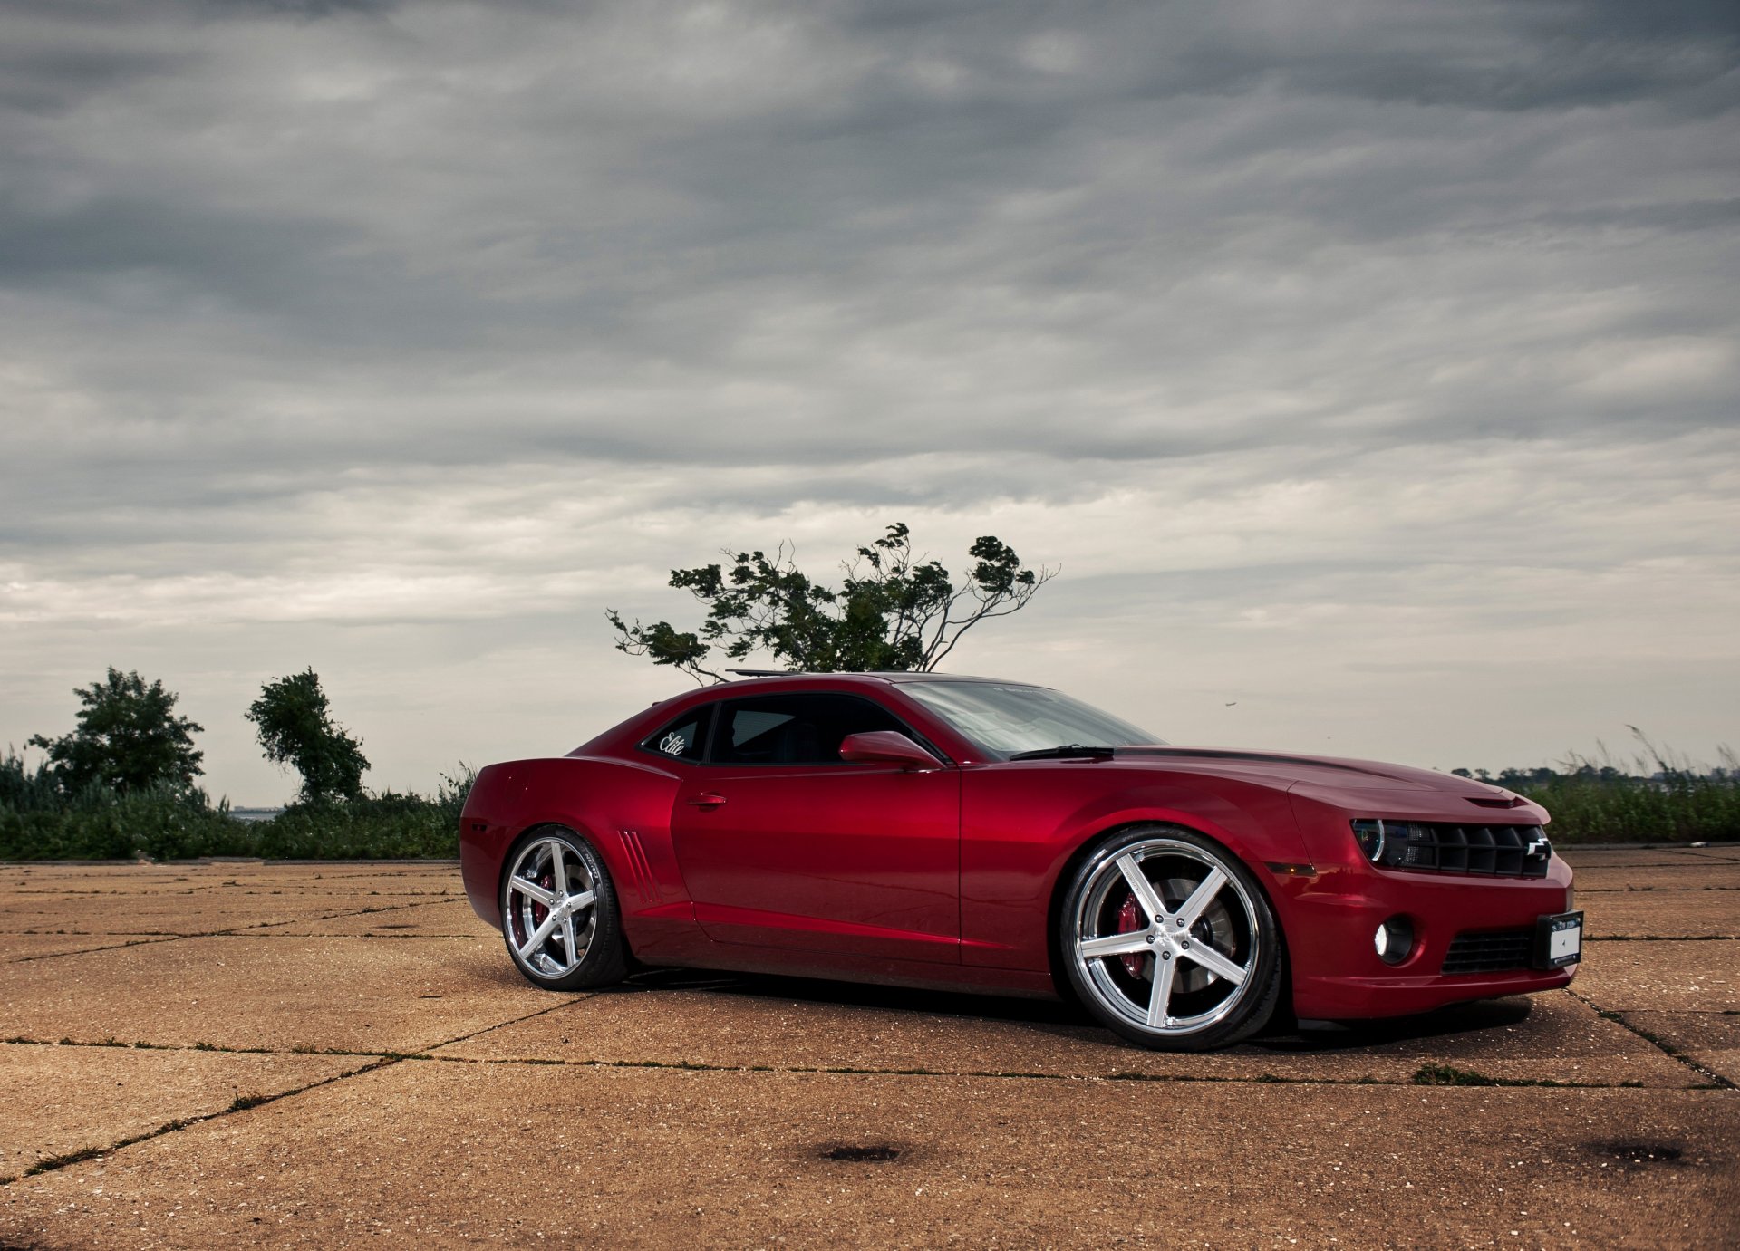
[[[459,868],[473,912],[501,924],[503,858],[525,830],[586,837],[611,873],[630,950],[682,962],[712,947],[670,849],[677,776],[658,762],[557,757],[484,769],[459,818]]]

